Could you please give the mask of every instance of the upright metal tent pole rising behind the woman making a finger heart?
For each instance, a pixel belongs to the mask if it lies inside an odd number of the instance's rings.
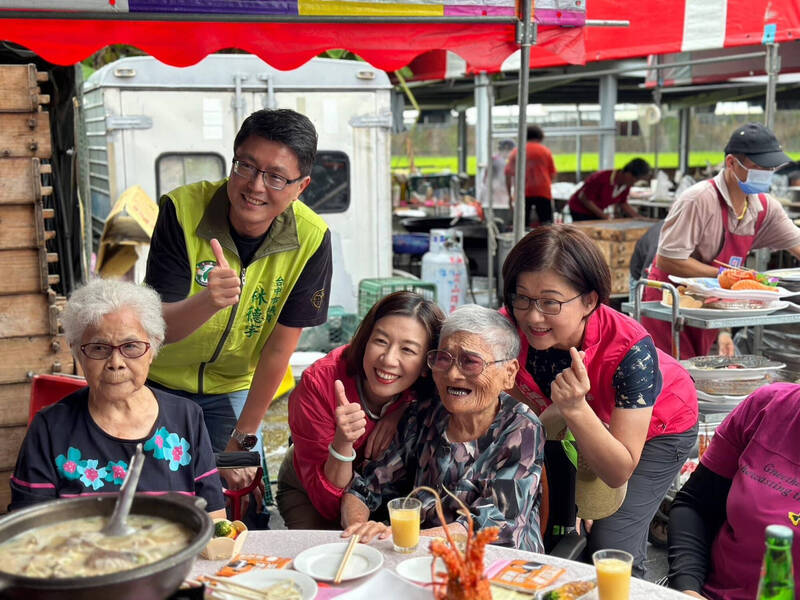
[[[528,94],[530,93],[531,46],[536,41],[536,24],[532,22],[533,0],[522,1],[522,21],[517,24],[519,39],[519,120],[517,122],[516,184],[514,186],[514,243],[525,235],[525,157],[527,148]]]

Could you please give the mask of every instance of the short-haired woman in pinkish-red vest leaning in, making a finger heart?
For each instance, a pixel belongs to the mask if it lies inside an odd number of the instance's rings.
[[[599,248],[568,225],[535,229],[503,264],[503,311],[523,342],[513,395],[548,438],[567,427],[601,482],[627,484],[588,548],[630,552],[641,577],[649,523],[697,439],[697,392],[637,321],[607,306],[610,290]]]

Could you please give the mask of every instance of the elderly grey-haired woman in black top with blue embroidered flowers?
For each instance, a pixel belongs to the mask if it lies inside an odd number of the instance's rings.
[[[34,417],[11,477],[9,508],[115,493],[141,442],[145,462],[138,491],[198,495],[212,517],[224,517],[200,409],[144,385],[164,340],[158,294],[97,279],[75,291],[62,321],[88,387]]]

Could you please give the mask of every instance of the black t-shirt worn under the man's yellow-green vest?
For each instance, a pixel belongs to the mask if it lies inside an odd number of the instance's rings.
[[[233,231],[233,227],[230,231],[239,258],[247,266],[264,238],[242,237]],[[314,327],[324,323],[328,314],[332,272],[331,232],[328,230],[289,293],[278,316],[278,323],[286,327]],[[188,296],[193,276],[194,271],[186,250],[186,238],[183,227],[178,222],[175,205],[170,198],[162,197],[150,241],[145,283],[158,292],[163,302],[179,302]],[[326,290],[320,308],[309,302],[318,290]]]

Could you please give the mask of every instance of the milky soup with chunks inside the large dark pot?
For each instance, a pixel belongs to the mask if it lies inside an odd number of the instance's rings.
[[[130,515],[131,535],[100,533],[108,517],[94,516],[30,529],[0,544],[0,571],[42,578],[94,577],[127,571],[186,548],[194,533],[161,517]]]

